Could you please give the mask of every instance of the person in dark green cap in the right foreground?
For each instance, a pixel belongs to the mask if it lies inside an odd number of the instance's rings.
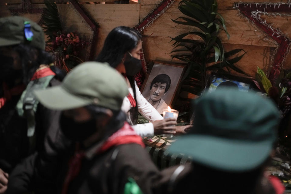
[[[197,194],[284,192],[278,178],[264,175],[280,120],[270,99],[220,89],[197,99],[194,109],[194,127],[168,150],[190,156],[193,163],[163,171],[166,178],[158,189]]]

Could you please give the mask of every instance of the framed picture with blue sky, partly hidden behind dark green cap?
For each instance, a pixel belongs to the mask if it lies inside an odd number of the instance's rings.
[[[256,88],[252,79],[214,72],[209,77],[205,92],[213,92],[223,87],[232,87],[242,92],[249,92]]]

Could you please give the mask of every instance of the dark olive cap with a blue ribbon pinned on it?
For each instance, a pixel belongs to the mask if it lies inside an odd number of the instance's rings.
[[[10,16],[0,18],[0,46],[28,44],[45,49],[45,37],[42,28],[28,18]]]

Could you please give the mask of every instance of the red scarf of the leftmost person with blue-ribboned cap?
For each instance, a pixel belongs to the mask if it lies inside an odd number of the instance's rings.
[[[31,80],[40,79],[40,78],[43,78],[43,77],[46,77],[49,75],[55,75],[55,73],[49,67],[46,67],[44,69],[36,71],[33,74]],[[26,86],[24,84],[22,84],[22,85],[17,85],[12,89],[9,89],[8,85],[4,82],[2,84],[2,87],[3,87],[4,96],[2,98],[0,98],[0,109],[5,105],[6,102],[11,100],[12,96],[21,95],[22,92],[26,88]]]

